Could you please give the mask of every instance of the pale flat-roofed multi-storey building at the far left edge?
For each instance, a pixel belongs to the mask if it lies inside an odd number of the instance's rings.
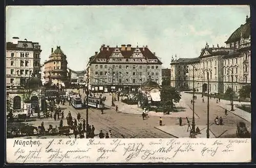
[[[18,37],[13,37],[12,42],[6,43],[7,88],[24,86],[32,74],[39,77],[40,53],[38,42],[27,39],[19,40]]]

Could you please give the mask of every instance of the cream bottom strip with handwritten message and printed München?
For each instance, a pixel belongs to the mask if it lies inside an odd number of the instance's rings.
[[[7,139],[6,153],[9,163],[246,162],[250,151],[251,139],[237,138]]]

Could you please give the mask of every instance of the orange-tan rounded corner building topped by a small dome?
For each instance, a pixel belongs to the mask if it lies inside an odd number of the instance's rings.
[[[70,78],[67,71],[67,56],[61,51],[60,46],[51,51],[51,55],[44,63],[44,77],[46,83],[64,88],[69,85]]]

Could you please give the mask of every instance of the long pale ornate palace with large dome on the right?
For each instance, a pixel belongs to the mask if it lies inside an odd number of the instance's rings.
[[[209,92],[224,93],[250,84],[250,18],[234,31],[225,42],[226,47],[209,47],[206,43],[198,58],[172,59],[171,85],[177,88],[194,88],[202,91],[209,79]],[[194,74],[194,79],[193,79]]]

